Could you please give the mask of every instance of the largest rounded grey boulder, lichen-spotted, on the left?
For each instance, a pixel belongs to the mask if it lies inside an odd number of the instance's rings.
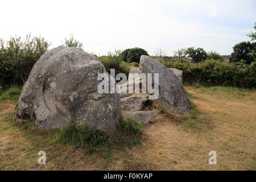
[[[120,97],[97,92],[98,73],[107,73],[105,67],[79,48],[47,51],[23,86],[14,120],[34,119],[39,129],[85,124],[113,134],[121,115]]]

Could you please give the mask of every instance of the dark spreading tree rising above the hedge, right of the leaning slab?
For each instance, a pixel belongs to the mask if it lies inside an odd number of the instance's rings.
[[[185,54],[192,57],[193,62],[195,63],[199,63],[200,61],[207,59],[207,52],[205,52],[203,48],[195,49],[194,47],[189,47],[185,51]]]

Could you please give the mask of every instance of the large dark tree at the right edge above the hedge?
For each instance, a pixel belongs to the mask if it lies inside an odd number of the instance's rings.
[[[251,64],[255,61],[253,53],[256,51],[256,43],[241,42],[233,47],[233,53],[230,57],[230,62],[236,63],[245,60],[246,64]]]

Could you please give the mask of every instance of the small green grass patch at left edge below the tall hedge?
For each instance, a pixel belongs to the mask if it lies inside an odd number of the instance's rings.
[[[22,86],[10,86],[7,89],[1,88],[0,90],[0,103],[5,102],[7,100],[11,102],[16,102],[19,99],[19,95],[22,91]]]

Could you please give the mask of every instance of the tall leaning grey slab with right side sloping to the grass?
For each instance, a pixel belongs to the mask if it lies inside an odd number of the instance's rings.
[[[159,74],[159,97],[154,100],[155,104],[167,111],[176,114],[186,114],[190,110],[190,102],[179,78],[166,66],[150,56],[141,56],[140,67],[142,73]],[[157,83],[154,83],[155,86]]]

